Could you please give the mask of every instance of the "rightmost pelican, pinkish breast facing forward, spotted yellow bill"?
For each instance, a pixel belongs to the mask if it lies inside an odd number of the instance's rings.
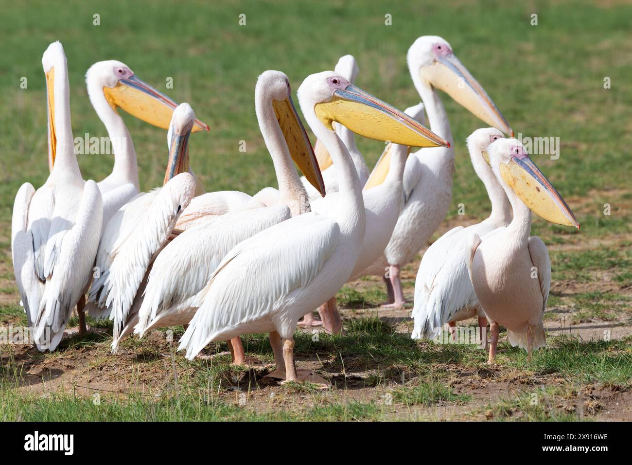
[[[480,237],[468,238],[468,271],[478,302],[490,320],[489,363],[494,363],[499,325],[512,346],[544,347],[542,316],[549,299],[549,251],[530,236],[531,212],[558,225],[580,228],[571,209],[516,139],[499,139],[488,149],[489,164],[504,189],[513,220]]]

